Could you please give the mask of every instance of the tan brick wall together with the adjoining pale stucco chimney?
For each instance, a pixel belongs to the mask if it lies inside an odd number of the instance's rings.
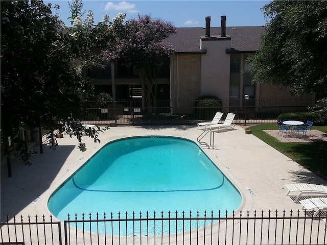
[[[171,56],[171,99],[173,113],[190,113],[194,100],[202,95],[219,97],[228,106],[230,38],[199,39],[204,54]],[[186,109],[187,108],[187,109]]]

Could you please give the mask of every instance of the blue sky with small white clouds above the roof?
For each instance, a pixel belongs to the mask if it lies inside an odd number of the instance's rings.
[[[71,14],[67,0],[52,1],[44,0],[45,4],[51,3],[52,6],[58,4],[60,10],[53,9],[53,14],[59,14],[67,26],[71,26]],[[69,1],[71,2],[71,1]],[[205,17],[211,16],[211,26],[220,27],[220,16],[226,15],[227,27],[242,26],[265,26],[266,20],[261,8],[270,1],[236,1],[236,0],[211,0],[211,1],[105,1],[105,0],[84,0],[83,9],[85,15],[88,10],[94,13],[95,24],[102,21],[103,16],[108,14],[110,20],[118,15],[125,13],[126,20],[137,18],[138,14],[149,14],[152,18],[160,18],[170,21],[175,27],[205,27]],[[84,20],[84,17],[82,19]]]

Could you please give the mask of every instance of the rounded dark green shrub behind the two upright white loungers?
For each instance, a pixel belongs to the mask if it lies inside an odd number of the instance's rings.
[[[217,111],[221,111],[222,105],[222,101],[216,96],[204,95],[198,97],[194,102],[195,117],[211,120]]]

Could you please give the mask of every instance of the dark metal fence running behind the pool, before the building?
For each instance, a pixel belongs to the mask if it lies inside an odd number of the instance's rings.
[[[194,107],[193,101],[157,101],[151,110],[141,101],[122,100],[107,103],[104,108],[86,102],[82,120],[89,124],[194,124],[199,120],[211,120],[217,111],[236,113],[235,122],[275,122],[281,113],[308,111],[312,100],[249,100],[244,102],[223,102],[221,107]],[[151,111],[151,113],[149,112]]]

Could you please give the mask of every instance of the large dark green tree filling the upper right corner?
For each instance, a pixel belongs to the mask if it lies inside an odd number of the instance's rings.
[[[327,96],[327,1],[274,0],[263,10],[267,25],[250,60],[253,81]]]

